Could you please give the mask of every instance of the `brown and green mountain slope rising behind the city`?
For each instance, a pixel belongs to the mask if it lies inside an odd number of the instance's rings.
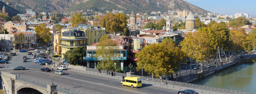
[[[30,8],[40,12],[71,12],[71,11],[112,11],[122,10],[125,13],[130,13],[134,10],[135,13],[160,11],[167,12],[168,10],[186,10],[192,13],[208,13],[202,8],[192,5],[183,0],[0,0],[16,10],[19,13],[26,13],[26,9]],[[106,8],[106,9],[101,9]]]

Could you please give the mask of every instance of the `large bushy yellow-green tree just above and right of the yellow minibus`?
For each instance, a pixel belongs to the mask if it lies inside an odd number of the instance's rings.
[[[175,46],[171,38],[165,38],[161,44],[150,44],[143,47],[141,52],[135,55],[137,63],[147,71],[159,78],[162,75],[172,76],[178,70],[180,63],[184,60],[184,53]],[[136,70],[140,70],[141,66]]]

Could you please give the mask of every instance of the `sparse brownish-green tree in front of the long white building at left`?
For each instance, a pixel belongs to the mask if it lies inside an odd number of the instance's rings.
[[[26,38],[24,37],[24,34],[22,34],[22,33],[15,34],[13,37],[14,37],[14,41],[13,41],[14,45],[24,44],[24,40],[26,40]],[[18,48],[20,50],[19,46],[18,46]]]

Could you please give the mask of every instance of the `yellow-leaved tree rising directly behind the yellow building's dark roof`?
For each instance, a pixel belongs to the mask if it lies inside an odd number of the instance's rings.
[[[71,17],[72,27],[77,27],[78,24],[85,24],[87,22],[86,17],[83,17],[80,13],[75,13]]]

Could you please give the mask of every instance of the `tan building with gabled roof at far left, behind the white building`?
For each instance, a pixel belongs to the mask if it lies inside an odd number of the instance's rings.
[[[7,29],[9,33],[19,33],[21,30],[28,30],[27,25],[15,24],[12,21],[7,22],[3,26],[4,26],[4,29]]]

